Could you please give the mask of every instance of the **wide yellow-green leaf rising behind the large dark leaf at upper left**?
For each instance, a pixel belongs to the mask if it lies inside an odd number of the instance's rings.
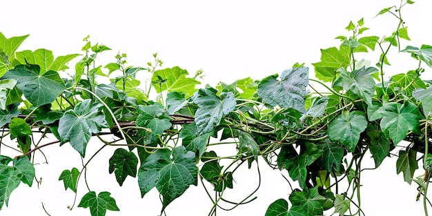
[[[66,64],[79,56],[79,54],[71,54],[66,56],[59,56],[54,59],[51,50],[39,49],[32,52],[31,50],[23,50],[16,53],[17,60],[25,64],[35,64],[41,67],[41,75],[48,70],[60,71],[66,70],[69,67]]]

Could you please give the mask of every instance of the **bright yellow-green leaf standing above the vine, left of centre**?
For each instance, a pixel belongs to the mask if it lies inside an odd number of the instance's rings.
[[[199,81],[193,78],[188,78],[188,71],[181,69],[179,67],[165,68],[162,70],[156,70],[153,72],[152,82],[153,87],[156,92],[160,93],[164,90],[168,92],[184,92],[186,97],[190,97],[195,92],[195,85],[201,84]],[[159,77],[159,78],[158,78]],[[159,79],[164,80],[164,82],[159,82]]]

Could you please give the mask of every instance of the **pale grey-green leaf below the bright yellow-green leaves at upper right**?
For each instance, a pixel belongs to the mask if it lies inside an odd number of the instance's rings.
[[[348,72],[344,68],[337,70],[339,75],[333,86],[341,86],[345,90],[351,90],[355,95],[362,97],[367,104],[372,104],[372,96],[375,94],[375,81],[372,75],[377,72],[377,68],[360,68],[353,72]]]

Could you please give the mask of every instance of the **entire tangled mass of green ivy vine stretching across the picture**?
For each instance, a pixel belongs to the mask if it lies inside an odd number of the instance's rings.
[[[340,46],[321,50],[320,61],[312,64],[317,79],[296,63],[281,75],[199,89],[202,71],[190,75],[179,67],[161,69],[156,54],[146,67],[128,66],[125,54],[102,65],[95,59],[110,48],[88,37],[84,55],[54,57],[46,49],[18,51],[28,35],[6,38],[0,33],[0,146],[17,146],[16,155],[0,155],[0,209],[21,182],[32,186],[34,160],[41,157],[37,152],[68,144],[85,161],[59,173],[66,190],[81,197],[77,206],[90,208],[92,216],[119,210],[109,192],[77,191],[81,174],[99,153],[89,157],[86,146],[99,139],[100,149],[116,148],[106,160],[119,186],[137,177],[141,196],[157,188],[161,214],[190,185],[208,181],[216,193],[214,199],[206,190],[215,204],[209,215],[215,215],[224,190],[234,186],[235,170],[259,162],[287,170],[300,186],[289,195],[289,206],[278,199],[266,216],[361,215],[356,195],[365,153],[378,167],[406,141],[397,151],[397,173],[419,185],[418,199],[424,197],[427,214],[432,82],[420,75],[423,66],[432,66],[432,46],[400,47],[400,40],[410,40],[401,10],[412,3],[379,12],[397,19],[389,37],[363,36],[368,30],[363,19],[350,22],[346,30],[351,35],[337,37]],[[418,68],[384,80],[392,48],[411,54]],[[381,53],[369,59],[377,62],[374,66],[356,59],[360,52],[373,51]],[[75,68],[68,68],[76,58],[81,59]],[[101,77],[110,83],[99,83]],[[57,141],[46,143],[47,136]],[[208,150],[222,140],[235,145],[237,154],[219,157]],[[415,178],[419,159],[424,175]],[[229,166],[222,161],[230,161]],[[348,182],[346,188],[338,188],[340,181]]]

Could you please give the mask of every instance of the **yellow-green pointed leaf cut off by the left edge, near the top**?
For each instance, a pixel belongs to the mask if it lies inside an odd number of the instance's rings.
[[[23,35],[7,39],[0,32],[0,77],[3,77],[6,71],[9,70],[8,66],[15,59],[15,51],[27,37],[28,35]]]

